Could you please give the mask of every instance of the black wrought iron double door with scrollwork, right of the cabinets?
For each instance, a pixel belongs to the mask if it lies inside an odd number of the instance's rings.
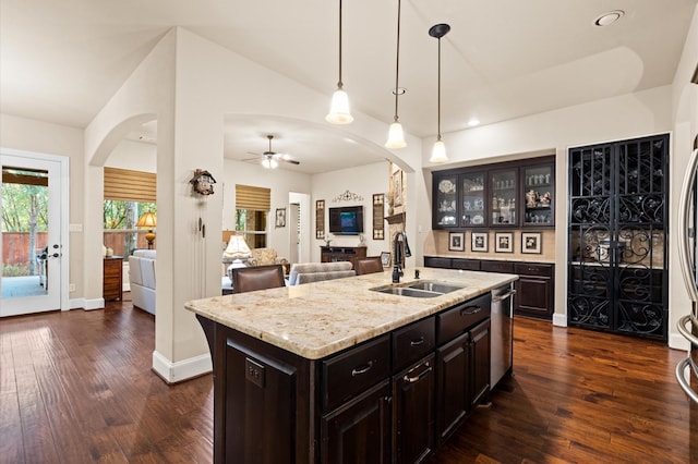
[[[569,150],[571,326],[666,340],[669,135]]]

